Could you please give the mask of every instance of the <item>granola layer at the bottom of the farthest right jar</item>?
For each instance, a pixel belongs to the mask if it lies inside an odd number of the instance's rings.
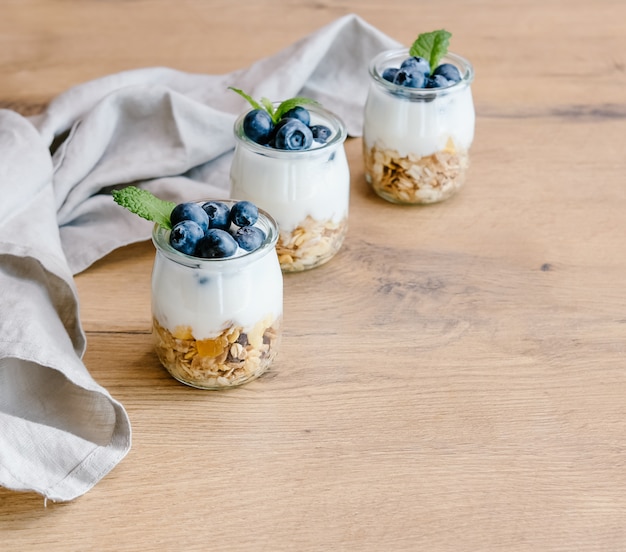
[[[396,150],[364,145],[365,174],[372,189],[393,203],[436,203],[456,193],[469,166],[467,151],[453,144],[432,155],[400,155]]]

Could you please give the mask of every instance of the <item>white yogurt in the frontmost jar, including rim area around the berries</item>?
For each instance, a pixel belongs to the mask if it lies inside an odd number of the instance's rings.
[[[235,203],[223,201],[229,207]],[[247,252],[238,247],[231,257],[202,259],[174,250],[169,232],[155,225],[152,314],[162,327],[172,334],[179,327],[191,328],[193,337],[200,340],[233,326],[249,332],[261,321],[269,325],[282,316],[277,224],[259,210],[255,226],[266,235],[258,249]]]

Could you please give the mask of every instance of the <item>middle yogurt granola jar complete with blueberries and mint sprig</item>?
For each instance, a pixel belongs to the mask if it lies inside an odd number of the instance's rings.
[[[350,171],[343,122],[318,102],[254,100],[235,122],[231,195],[278,222],[283,272],[316,268],[335,256],[348,229]]]

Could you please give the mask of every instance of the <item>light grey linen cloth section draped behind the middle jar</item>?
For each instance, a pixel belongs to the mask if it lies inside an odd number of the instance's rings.
[[[230,86],[257,99],[311,97],[334,111],[349,135],[359,136],[369,62],[398,46],[349,14],[229,74],[144,68],[59,95],[31,122],[49,145],[69,133],[54,156],[54,185],[61,240],[72,272],[85,270],[117,247],[150,237],[150,225],[131,221],[134,215],[123,209],[107,208],[110,198],[100,197],[106,187],[136,184],[158,189],[170,201],[228,197],[233,122],[249,107]],[[167,183],[160,182],[163,178]],[[93,247],[101,235],[103,208],[109,221],[106,246]]]

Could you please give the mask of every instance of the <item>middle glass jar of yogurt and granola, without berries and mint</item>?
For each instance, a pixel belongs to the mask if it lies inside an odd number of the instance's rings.
[[[348,230],[345,125],[321,107],[306,108],[311,125],[322,124],[332,131],[325,144],[308,150],[277,150],[253,142],[243,131],[245,113],[234,127],[231,195],[252,201],[276,219],[280,230],[276,249],[283,272],[308,270],[329,261]]]

